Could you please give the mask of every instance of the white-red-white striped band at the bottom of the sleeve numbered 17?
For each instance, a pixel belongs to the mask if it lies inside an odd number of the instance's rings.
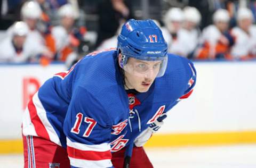
[[[111,167],[110,145],[86,145],[67,138],[67,152],[70,164],[75,167]]]

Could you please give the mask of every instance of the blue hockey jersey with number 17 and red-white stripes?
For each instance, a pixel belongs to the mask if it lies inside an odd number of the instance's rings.
[[[23,116],[22,133],[67,148],[75,167],[111,167],[111,152],[134,139],[193,91],[196,71],[169,54],[163,77],[146,93],[128,94],[116,50],[85,56],[39,88]]]

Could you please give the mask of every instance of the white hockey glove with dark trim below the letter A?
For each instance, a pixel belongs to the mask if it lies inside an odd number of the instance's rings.
[[[134,145],[141,147],[146,144],[152,134],[159,130],[164,124],[163,119],[167,117],[166,113],[162,114],[154,123],[151,123],[149,127],[140,133],[140,135],[134,140]]]

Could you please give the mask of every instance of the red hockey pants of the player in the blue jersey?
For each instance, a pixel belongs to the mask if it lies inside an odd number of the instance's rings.
[[[23,150],[24,150],[24,168],[28,168],[28,142],[25,136],[23,137]],[[33,136],[35,166],[37,168],[50,167],[50,163],[59,164],[60,168],[70,168],[70,161],[68,158],[67,150],[53,142]],[[115,168],[123,168],[125,149],[112,153],[111,162]],[[31,165],[32,163],[30,163]],[[152,168],[153,165],[149,161],[147,154],[143,147],[134,147],[132,151],[132,158],[130,168]],[[91,167],[93,168],[93,167]]]

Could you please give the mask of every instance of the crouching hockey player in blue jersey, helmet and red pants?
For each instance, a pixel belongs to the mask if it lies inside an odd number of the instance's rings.
[[[141,145],[195,80],[193,63],[167,55],[152,20],[127,21],[117,49],[85,56],[30,100],[25,167],[123,167],[124,156],[132,156],[130,167],[153,167]]]

